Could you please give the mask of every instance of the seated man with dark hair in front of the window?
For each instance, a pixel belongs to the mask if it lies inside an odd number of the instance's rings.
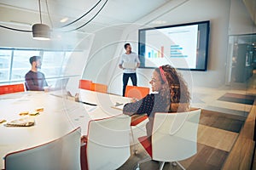
[[[25,76],[26,90],[47,91],[48,84],[45,80],[44,73],[38,71],[42,65],[41,57],[32,56],[29,61],[32,68],[26,73]]]

